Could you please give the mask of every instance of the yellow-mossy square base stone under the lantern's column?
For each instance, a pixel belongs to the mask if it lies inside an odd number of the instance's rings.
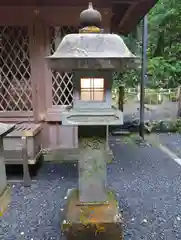
[[[107,189],[106,203],[86,203],[79,201],[79,190],[68,191],[62,231],[66,239],[114,239],[122,240],[118,203],[113,192]]]

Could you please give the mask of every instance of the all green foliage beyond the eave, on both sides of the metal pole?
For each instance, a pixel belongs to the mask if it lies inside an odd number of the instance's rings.
[[[160,0],[148,14],[148,81],[151,88],[174,88],[181,84],[181,1]],[[141,56],[142,23],[126,38],[125,43]],[[121,75],[128,87],[141,79],[140,69]],[[116,79],[117,81],[117,79]],[[119,85],[119,84],[118,84]]]

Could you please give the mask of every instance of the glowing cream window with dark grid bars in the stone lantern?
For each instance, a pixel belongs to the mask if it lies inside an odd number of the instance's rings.
[[[80,88],[82,101],[104,101],[103,78],[81,78]]]

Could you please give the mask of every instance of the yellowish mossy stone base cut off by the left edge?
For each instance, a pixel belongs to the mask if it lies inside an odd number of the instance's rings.
[[[6,212],[11,201],[11,188],[7,186],[0,195],[0,217]]]

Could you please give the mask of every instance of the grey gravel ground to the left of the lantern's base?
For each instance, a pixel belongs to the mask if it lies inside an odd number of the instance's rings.
[[[0,220],[1,240],[60,240],[66,192],[77,182],[76,164],[45,163],[31,188],[13,185],[9,211]]]

